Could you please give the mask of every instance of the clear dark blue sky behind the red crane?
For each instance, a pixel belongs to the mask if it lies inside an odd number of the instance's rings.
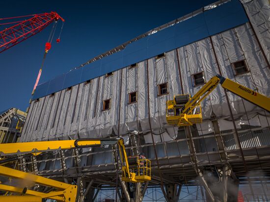
[[[214,1],[3,1],[0,18],[56,11],[66,20],[59,44],[56,44],[55,39],[60,24],[57,27],[40,79],[42,83],[152,28]],[[5,27],[0,25],[0,30]],[[0,111],[10,107],[26,110],[51,28],[48,26],[19,45],[0,53]]]

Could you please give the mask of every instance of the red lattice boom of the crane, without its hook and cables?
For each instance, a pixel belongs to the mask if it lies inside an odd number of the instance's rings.
[[[64,19],[61,18],[58,13],[53,11],[51,13],[36,14],[30,19],[19,21],[18,24],[0,31],[0,52],[6,51],[21,43],[27,38],[42,31],[46,26],[54,22],[54,20],[57,21],[59,19],[64,22]]]

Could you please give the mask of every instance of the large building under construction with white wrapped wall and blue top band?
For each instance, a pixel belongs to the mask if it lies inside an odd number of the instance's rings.
[[[145,190],[161,190],[162,201],[194,201],[183,195],[194,187],[198,201],[235,201],[238,189],[245,199],[267,201],[269,112],[218,86],[201,103],[203,123],[178,128],[166,123],[165,102],[194,95],[217,74],[270,96],[269,19],[267,0],[220,0],[40,84],[21,141],[119,135],[130,154],[151,159],[153,180]],[[39,157],[35,172],[82,177],[82,190],[90,184],[87,196],[98,201],[95,190],[115,192],[113,154],[110,147],[54,153]],[[131,191],[120,185],[119,197],[129,202]]]

